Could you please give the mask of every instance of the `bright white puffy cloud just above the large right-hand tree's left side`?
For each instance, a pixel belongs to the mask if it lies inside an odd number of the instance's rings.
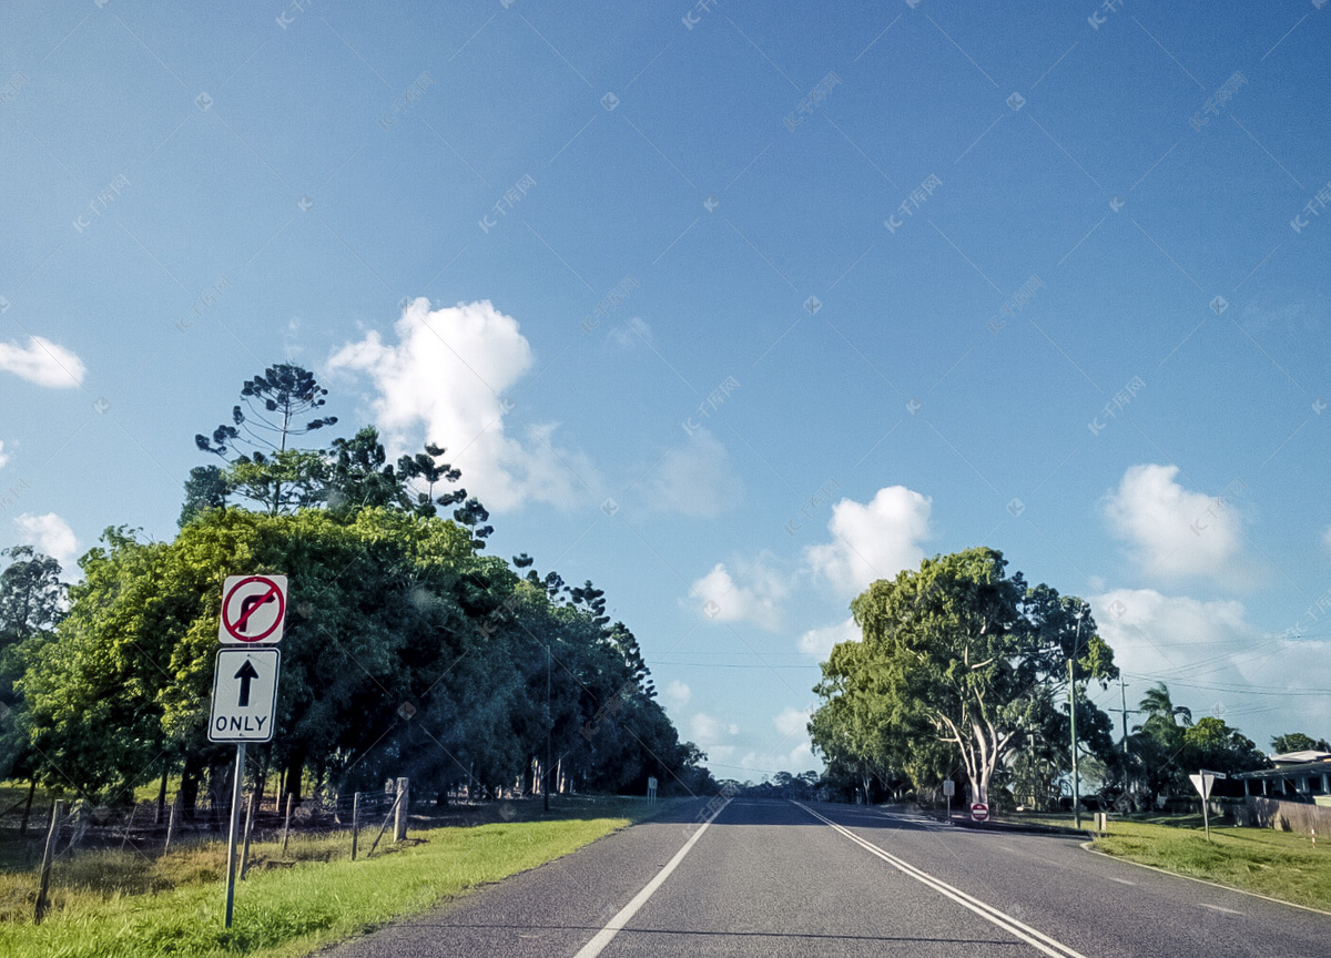
[[[843,499],[832,507],[828,523],[833,540],[809,547],[808,561],[843,595],[858,595],[876,579],[920,564],[930,507],[928,496],[905,486],[878,490],[866,506]]]

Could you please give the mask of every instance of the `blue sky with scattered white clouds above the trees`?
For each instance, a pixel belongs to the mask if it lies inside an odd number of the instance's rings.
[[[981,544],[1102,707],[1331,734],[1324,0],[5,16],[0,546],[170,539],[291,362],[606,589],[719,777],[817,768],[851,599]]]

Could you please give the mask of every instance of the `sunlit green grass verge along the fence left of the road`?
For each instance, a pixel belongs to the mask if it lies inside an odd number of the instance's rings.
[[[672,802],[651,809],[660,812]],[[648,814],[643,804],[598,802],[544,821],[413,832],[374,858],[347,858],[346,834],[252,848],[237,883],[236,921],[222,927],[225,848],[185,846],[164,858],[89,852],[57,862],[52,910],[32,923],[36,876],[0,874],[0,954],[8,958],[294,957],[441,899],[566,856]]]

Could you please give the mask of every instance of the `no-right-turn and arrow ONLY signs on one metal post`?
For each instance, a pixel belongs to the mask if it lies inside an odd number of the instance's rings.
[[[226,838],[226,917],[232,926],[236,910],[236,845],[240,838],[241,789],[245,782],[246,742],[273,740],[277,713],[277,676],[286,619],[286,576],[228,576],[222,585],[222,615],[213,671],[213,709],[208,740],[236,742],[236,774],[232,781],[232,822]],[[261,644],[262,643],[262,644]]]

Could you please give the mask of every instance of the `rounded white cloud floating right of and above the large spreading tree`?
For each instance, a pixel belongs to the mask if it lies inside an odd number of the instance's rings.
[[[1178,466],[1130,466],[1103,499],[1110,528],[1130,544],[1146,573],[1233,573],[1242,535],[1234,495],[1190,492],[1175,482],[1177,475]]]

